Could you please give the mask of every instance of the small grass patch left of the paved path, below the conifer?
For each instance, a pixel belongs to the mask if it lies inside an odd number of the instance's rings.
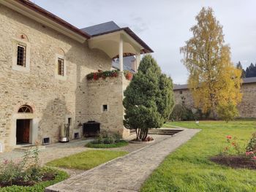
[[[87,150],[82,153],[70,155],[64,158],[59,158],[48,162],[48,166],[57,166],[69,169],[83,169],[88,170],[104,164],[113,158],[126,155],[124,151],[110,151],[110,150]]]

